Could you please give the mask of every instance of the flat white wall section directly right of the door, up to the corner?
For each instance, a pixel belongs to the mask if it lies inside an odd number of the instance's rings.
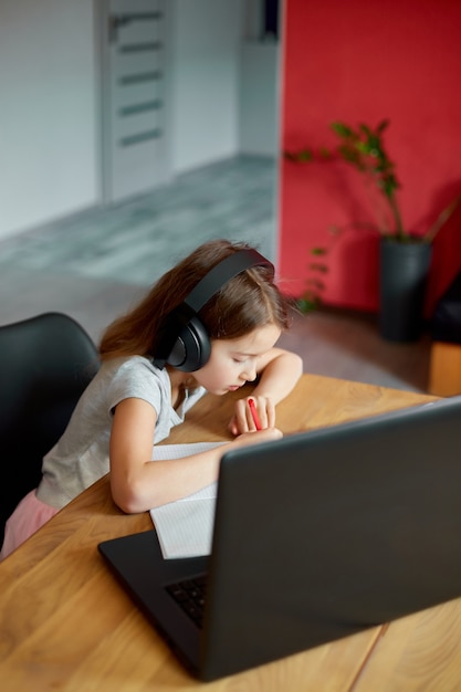
[[[172,18],[172,170],[239,148],[241,0],[176,0]]]

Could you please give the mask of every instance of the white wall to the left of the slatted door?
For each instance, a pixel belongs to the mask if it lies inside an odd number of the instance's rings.
[[[0,237],[98,199],[93,0],[0,2]]]

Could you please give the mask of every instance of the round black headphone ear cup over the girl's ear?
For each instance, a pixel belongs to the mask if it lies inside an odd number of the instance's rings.
[[[208,332],[198,317],[191,317],[178,334],[167,363],[184,373],[193,373],[208,363],[210,355]]]

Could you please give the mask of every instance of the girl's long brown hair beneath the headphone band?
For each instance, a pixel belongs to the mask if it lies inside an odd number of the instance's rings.
[[[249,245],[227,240],[209,241],[195,250],[150,289],[129,313],[104,333],[99,353],[114,356],[154,356],[156,335],[166,315],[180,305],[198,282],[221,260]],[[216,293],[198,313],[210,339],[232,339],[256,327],[289,327],[289,302],[273,282],[270,266],[252,266]]]

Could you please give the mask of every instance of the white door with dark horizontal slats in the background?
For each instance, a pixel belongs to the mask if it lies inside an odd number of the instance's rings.
[[[166,0],[107,0],[103,19],[103,189],[106,202],[170,177]]]

